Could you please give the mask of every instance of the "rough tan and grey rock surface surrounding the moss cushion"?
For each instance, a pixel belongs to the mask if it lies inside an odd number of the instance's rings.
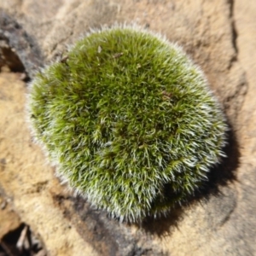
[[[35,68],[59,58],[89,27],[137,21],[183,45],[206,73],[230,123],[228,158],[212,169],[209,183],[188,206],[141,225],[119,224],[73,196],[54,177],[29,136],[26,85],[17,73],[2,73],[0,186],[50,255],[256,254],[256,3],[246,2],[0,3],[0,55],[12,70],[12,60],[18,59],[32,78]]]

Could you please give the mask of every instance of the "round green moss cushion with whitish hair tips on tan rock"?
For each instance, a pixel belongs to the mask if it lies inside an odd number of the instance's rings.
[[[226,125],[182,49],[114,26],[91,32],[67,56],[37,74],[28,107],[35,137],[73,189],[114,217],[141,221],[207,180]]]

